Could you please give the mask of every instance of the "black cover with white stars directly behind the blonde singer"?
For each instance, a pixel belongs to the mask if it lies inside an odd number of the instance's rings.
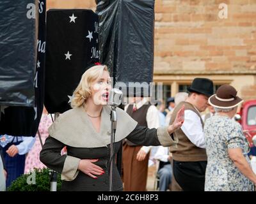
[[[92,10],[47,11],[45,107],[63,113],[86,68],[99,61],[98,15]]]

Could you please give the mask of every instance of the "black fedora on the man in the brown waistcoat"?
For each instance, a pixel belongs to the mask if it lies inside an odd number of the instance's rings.
[[[197,92],[204,94],[205,96],[212,96],[213,94],[213,83],[209,78],[195,78],[190,87],[189,92]]]

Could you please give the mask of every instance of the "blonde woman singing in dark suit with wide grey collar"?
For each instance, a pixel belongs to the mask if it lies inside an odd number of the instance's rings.
[[[63,191],[109,191],[110,80],[107,66],[97,65],[85,71],[74,91],[72,109],[60,115],[49,128],[50,136],[45,140],[40,160],[61,173]],[[158,129],[138,126],[120,108],[116,108],[116,115],[115,154],[124,138],[138,145],[176,145],[178,141],[172,138],[172,133],[182,126],[184,107],[172,125]],[[61,156],[65,146],[67,154]],[[122,191],[122,179],[115,160],[113,163],[112,190]]]

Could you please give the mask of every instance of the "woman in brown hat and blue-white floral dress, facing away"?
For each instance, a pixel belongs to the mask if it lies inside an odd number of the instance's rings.
[[[221,85],[209,98],[216,115],[206,120],[205,191],[253,191],[256,175],[247,156],[250,146],[241,125],[232,120],[243,100],[231,85]]]

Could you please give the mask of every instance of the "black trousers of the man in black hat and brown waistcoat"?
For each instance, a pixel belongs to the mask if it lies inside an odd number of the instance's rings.
[[[204,191],[207,161],[175,161],[173,175],[183,191]]]

